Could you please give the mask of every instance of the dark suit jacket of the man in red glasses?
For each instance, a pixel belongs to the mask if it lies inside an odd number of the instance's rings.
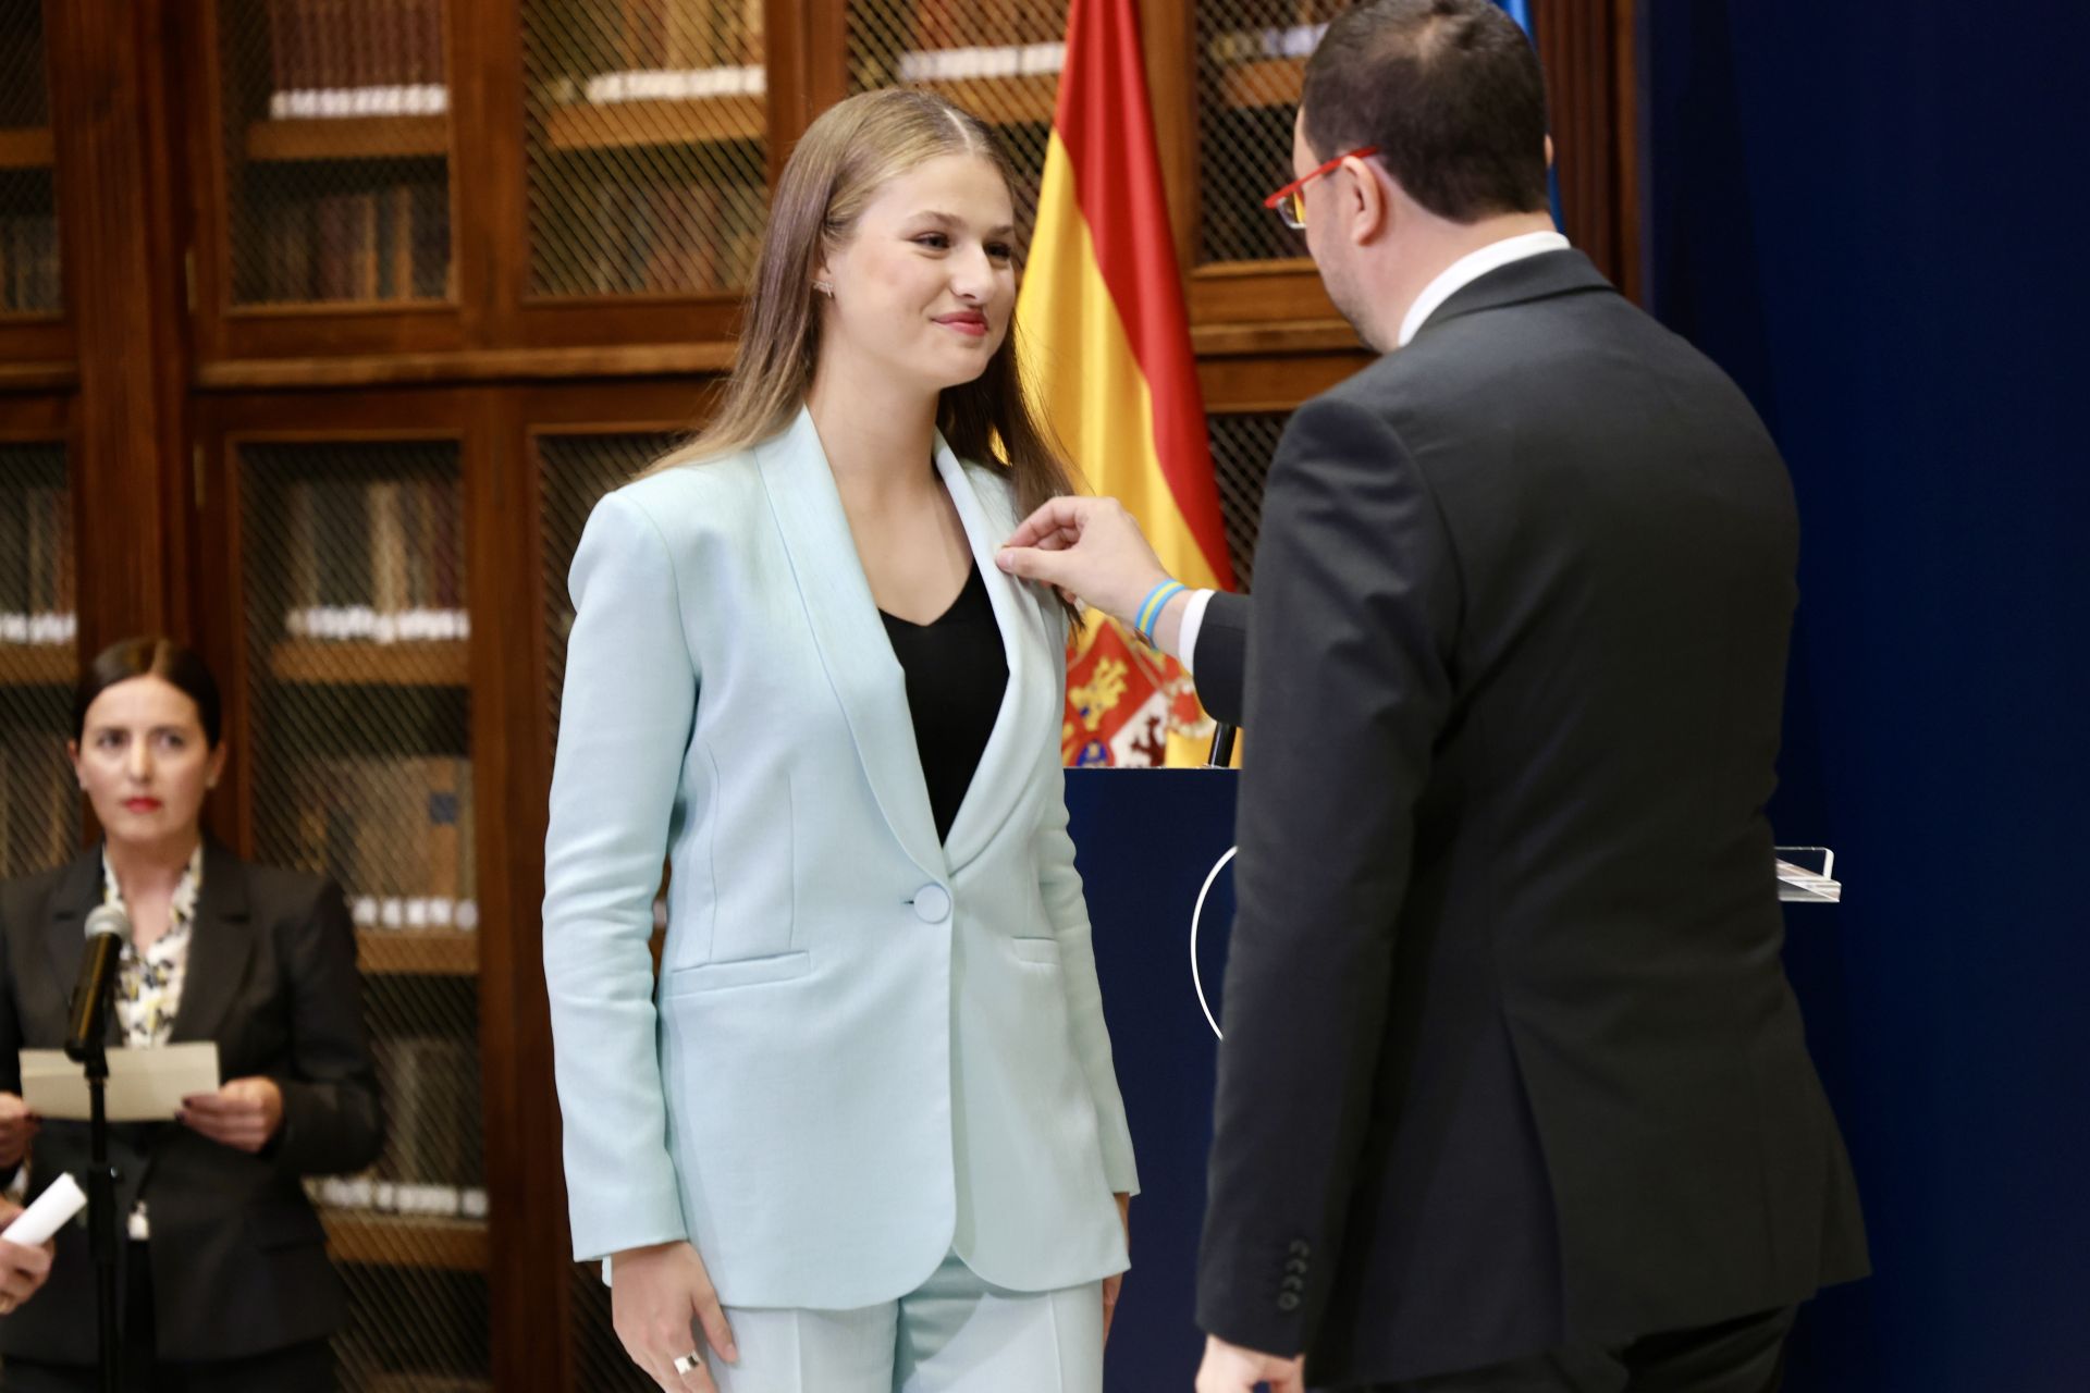
[[[1248,731],[1206,1330],[1394,1380],[1866,1272],[1764,819],[1795,560],[1756,411],[1580,253],[1298,409],[1195,654]]]

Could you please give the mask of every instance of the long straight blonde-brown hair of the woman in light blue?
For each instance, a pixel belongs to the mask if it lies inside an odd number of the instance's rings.
[[[940,155],[986,159],[1014,200],[1016,173],[995,134],[930,92],[859,92],[813,121],[769,207],[746,330],[719,409],[694,441],[654,462],[648,474],[732,455],[790,428],[819,361],[815,267],[849,240],[880,188]],[[1024,393],[1014,326],[978,378],[943,391],[936,426],[959,459],[1009,476],[1018,516],[1074,493],[1072,474]]]

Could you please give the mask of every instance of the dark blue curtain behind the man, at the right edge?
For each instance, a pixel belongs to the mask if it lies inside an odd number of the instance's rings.
[[[1799,493],[1787,961],[1877,1276],[1797,1393],[2090,1389],[2080,6],[1643,4],[1649,301]]]

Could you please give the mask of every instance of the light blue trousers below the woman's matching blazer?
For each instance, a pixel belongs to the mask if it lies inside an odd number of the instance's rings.
[[[853,1312],[725,1307],[740,1364],[719,1393],[1101,1393],[1104,1286],[1005,1291],[955,1255]]]

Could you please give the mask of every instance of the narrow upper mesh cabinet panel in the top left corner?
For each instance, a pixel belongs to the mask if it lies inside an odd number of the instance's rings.
[[[44,4],[0,0],[0,320],[63,305]]]

